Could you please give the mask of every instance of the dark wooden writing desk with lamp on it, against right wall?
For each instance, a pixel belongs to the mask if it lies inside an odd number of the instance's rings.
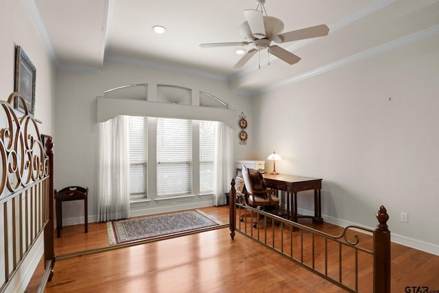
[[[298,218],[312,218],[314,224],[322,224],[322,179],[309,178],[288,174],[262,174],[268,188],[285,191],[287,194],[287,218],[297,222]],[[297,214],[297,193],[299,191],[314,190],[314,215]],[[291,211],[289,209],[291,202]]]

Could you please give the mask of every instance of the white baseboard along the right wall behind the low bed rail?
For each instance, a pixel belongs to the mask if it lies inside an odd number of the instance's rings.
[[[305,210],[305,209],[298,209],[298,213],[300,213],[300,215],[314,215],[313,211],[309,211],[309,210]],[[358,223],[349,222],[349,221],[342,220],[339,218],[334,218],[334,217],[331,217],[330,215],[322,215],[322,217],[323,217],[325,222],[328,222],[330,224],[334,224],[337,226],[342,226],[342,227],[360,226],[360,227],[368,228],[370,230],[375,230],[375,227],[363,226],[363,225],[358,224]],[[431,253],[432,255],[439,255],[439,246],[436,244],[423,242],[423,241],[413,239],[410,237],[405,237],[403,235],[399,235],[396,233],[390,233],[390,241],[394,242],[396,244],[401,244],[403,246],[407,246],[410,248],[424,251],[425,253]]]

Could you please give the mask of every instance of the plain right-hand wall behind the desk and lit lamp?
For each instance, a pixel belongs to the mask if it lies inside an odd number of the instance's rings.
[[[323,178],[324,218],[375,228],[383,204],[393,239],[439,253],[438,109],[435,36],[261,94],[255,144],[278,172]]]

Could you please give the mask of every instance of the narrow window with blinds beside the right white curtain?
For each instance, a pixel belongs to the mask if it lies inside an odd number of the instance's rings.
[[[215,122],[200,121],[200,193],[213,192]]]

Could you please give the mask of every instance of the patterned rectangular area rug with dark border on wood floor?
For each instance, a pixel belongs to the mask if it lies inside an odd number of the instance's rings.
[[[222,222],[202,211],[182,211],[145,218],[107,222],[110,245],[155,237],[178,235],[200,228],[219,226]]]

